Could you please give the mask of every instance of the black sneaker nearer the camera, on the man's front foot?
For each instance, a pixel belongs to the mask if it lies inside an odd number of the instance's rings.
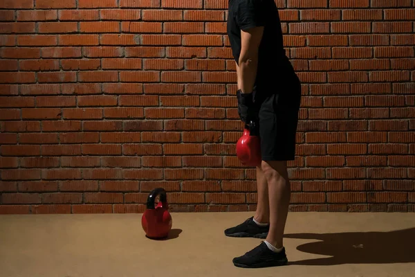
[[[261,242],[257,247],[247,252],[245,255],[232,260],[235,267],[259,268],[259,267],[278,267],[288,264],[285,248],[276,253],[270,250],[265,242]]]

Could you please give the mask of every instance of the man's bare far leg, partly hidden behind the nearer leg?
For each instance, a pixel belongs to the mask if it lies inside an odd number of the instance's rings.
[[[254,219],[259,223],[270,222],[270,203],[268,197],[268,181],[261,167],[257,167],[258,203]]]

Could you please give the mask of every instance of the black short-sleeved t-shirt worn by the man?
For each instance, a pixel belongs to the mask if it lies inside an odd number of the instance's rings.
[[[241,53],[241,30],[264,26],[255,87],[257,91],[277,93],[271,92],[275,89],[270,89],[270,86],[281,87],[287,80],[292,80],[295,73],[284,50],[282,26],[275,1],[229,0],[228,11],[228,37],[237,63]]]

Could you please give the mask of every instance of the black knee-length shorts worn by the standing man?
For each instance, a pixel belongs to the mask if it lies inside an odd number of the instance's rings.
[[[293,161],[295,159],[300,102],[301,84],[299,81],[291,83],[280,93],[266,96],[259,102],[259,136],[263,161]]]

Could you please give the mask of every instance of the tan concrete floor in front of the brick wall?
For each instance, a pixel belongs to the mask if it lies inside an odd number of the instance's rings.
[[[223,229],[252,213],[173,213],[169,240],[145,238],[141,215],[1,215],[1,277],[415,276],[414,213],[290,213],[290,265],[240,269],[261,240]]]

